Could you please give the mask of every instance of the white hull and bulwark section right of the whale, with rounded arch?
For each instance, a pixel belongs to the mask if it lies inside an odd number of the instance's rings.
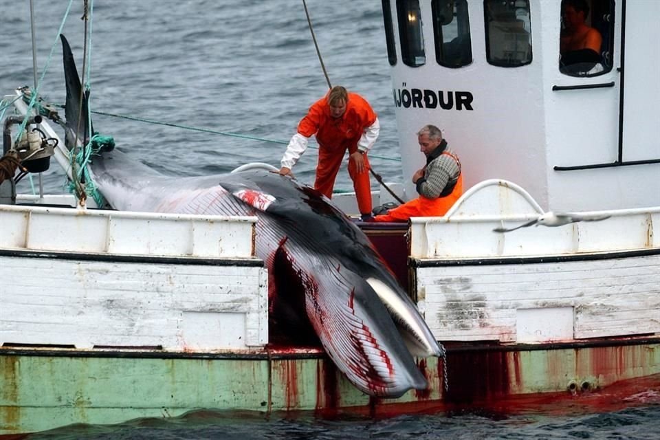
[[[494,232],[540,214],[522,188],[485,181],[445,217],[412,220],[415,294],[434,335],[541,343],[660,334],[660,208]]]

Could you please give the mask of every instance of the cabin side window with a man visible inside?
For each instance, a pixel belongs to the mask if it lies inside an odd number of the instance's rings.
[[[597,76],[612,70],[614,0],[562,0],[559,70]]]

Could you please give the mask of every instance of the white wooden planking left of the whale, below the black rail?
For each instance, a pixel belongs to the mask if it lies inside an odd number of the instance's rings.
[[[39,277],[18,276],[29,273],[27,267]],[[232,329],[242,347],[267,343],[263,267],[14,256],[0,258],[0,276],[12,281],[0,289],[0,344],[162,345],[182,350],[196,344],[186,331],[209,340],[195,322],[181,327],[182,316],[190,313],[206,316],[199,326],[243,322],[245,329]],[[236,341],[220,339],[217,346],[206,348],[233,349]]]

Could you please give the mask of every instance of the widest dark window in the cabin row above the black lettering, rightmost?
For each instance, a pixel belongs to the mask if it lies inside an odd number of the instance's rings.
[[[488,63],[518,67],[531,63],[529,0],[485,0]]]

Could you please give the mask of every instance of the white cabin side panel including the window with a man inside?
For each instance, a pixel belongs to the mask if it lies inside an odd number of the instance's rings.
[[[553,120],[559,168],[615,162],[619,154],[621,10],[626,1],[564,0]],[[575,15],[577,14],[577,17]],[[576,24],[577,23],[577,24]],[[578,28],[579,31],[571,32]],[[597,50],[596,50],[597,48]],[[558,165],[558,164],[555,164]],[[558,168],[555,168],[558,169]]]

